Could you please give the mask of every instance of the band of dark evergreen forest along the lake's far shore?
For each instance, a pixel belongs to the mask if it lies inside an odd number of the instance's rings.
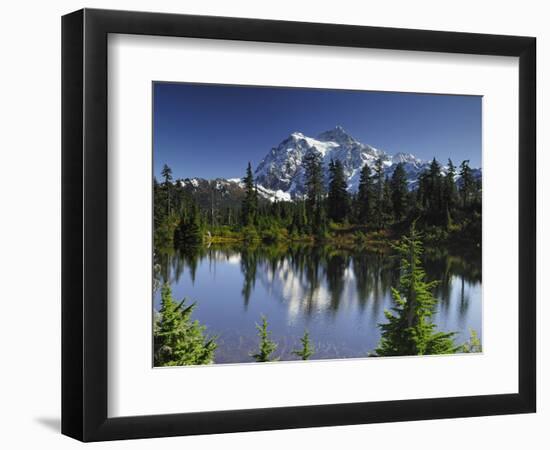
[[[413,221],[427,232],[428,240],[452,236],[480,244],[481,182],[467,160],[458,168],[449,160],[444,174],[434,158],[411,189],[403,163],[396,164],[388,176],[379,158],[372,169],[362,168],[356,193],[348,190],[340,160],[329,162],[328,183],[319,153],[306,155],[304,169],[303,198],[270,202],[259,195],[249,163],[240,201],[219,206],[214,200],[200,204],[181,180],[174,182],[172,170],[165,165],[162,181],[154,180],[155,247],[199,245],[205,236],[323,241],[337,233],[402,231]]]

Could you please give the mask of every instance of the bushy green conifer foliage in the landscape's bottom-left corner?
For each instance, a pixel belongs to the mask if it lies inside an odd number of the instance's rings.
[[[161,309],[154,327],[154,365],[184,366],[210,364],[214,360],[215,338],[205,335],[206,327],[193,321],[195,304],[174,301],[168,284],[162,286]]]

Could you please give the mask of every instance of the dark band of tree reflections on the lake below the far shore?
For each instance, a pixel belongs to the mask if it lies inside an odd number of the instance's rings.
[[[271,285],[279,278],[281,283],[291,286],[291,296],[301,297],[285,299],[280,295],[281,301],[297,302],[300,312],[306,317],[323,308],[333,313],[338,311],[348,282],[348,269],[352,270],[355,279],[356,295],[353,297],[358,308],[363,310],[371,302],[374,315],[378,314],[391,287],[399,282],[399,260],[391,254],[307,244],[213,245],[161,253],[155,255],[155,264],[160,268],[154,271],[155,279],[158,277],[161,282],[177,283],[188,270],[194,282],[198,265],[205,258],[214,266],[224,260],[239,261],[245,308],[259,277],[264,280],[269,278]],[[427,249],[423,259],[426,278],[439,281],[434,294],[443,310],[448,308],[450,302],[453,277],[461,280],[458,306],[459,314],[464,316],[469,304],[465,284],[481,282],[480,255],[461,257]],[[323,286],[328,290],[328,299],[321,295]],[[327,300],[328,304],[324,304]]]

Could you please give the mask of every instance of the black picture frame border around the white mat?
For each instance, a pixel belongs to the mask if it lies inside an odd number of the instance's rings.
[[[518,393],[109,418],[109,33],[519,57]],[[94,9],[64,16],[62,433],[82,441],[102,441],[535,412],[535,91],[533,37]]]

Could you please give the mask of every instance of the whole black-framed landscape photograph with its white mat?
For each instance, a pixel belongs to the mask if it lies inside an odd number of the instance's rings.
[[[62,432],[535,412],[532,37],[62,20]]]

